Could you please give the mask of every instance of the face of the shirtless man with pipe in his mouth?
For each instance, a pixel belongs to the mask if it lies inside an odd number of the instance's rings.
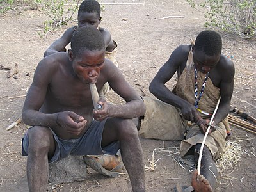
[[[71,55],[70,55],[71,54]],[[69,52],[70,61],[73,62],[74,72],[86,84],[96,83],[100,70],[105,64],[105,51],[84,50],[81,55],[74,56]]]

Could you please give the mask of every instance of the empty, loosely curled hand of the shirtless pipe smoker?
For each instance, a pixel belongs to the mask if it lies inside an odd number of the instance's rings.
[[[56,124],[65,129],[70,134],[80,134],[86,124],[83,116],[77,115],[72,111],[63,111],[58,113]]]

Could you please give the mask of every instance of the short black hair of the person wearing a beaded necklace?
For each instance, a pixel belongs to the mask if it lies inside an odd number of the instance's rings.
[[[205,30],[198,34],[195,41],[195,50],[203,51],[205,54],[212,56],[221,54],[222,40],[216,31]]]

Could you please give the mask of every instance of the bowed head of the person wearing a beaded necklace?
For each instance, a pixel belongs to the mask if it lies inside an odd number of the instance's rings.
[[[194,63],[201,72],[208,72],[220,60],[222,48],[221,36],[216,31],[202,31],[195,41]]]

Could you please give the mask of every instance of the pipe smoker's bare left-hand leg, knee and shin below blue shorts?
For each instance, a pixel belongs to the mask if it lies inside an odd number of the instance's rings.
[[[48,157],[54,154],[55,145],[48,127],[32,127],[29,131],[27,177],[29,191],[46,191],[48,181]]]

